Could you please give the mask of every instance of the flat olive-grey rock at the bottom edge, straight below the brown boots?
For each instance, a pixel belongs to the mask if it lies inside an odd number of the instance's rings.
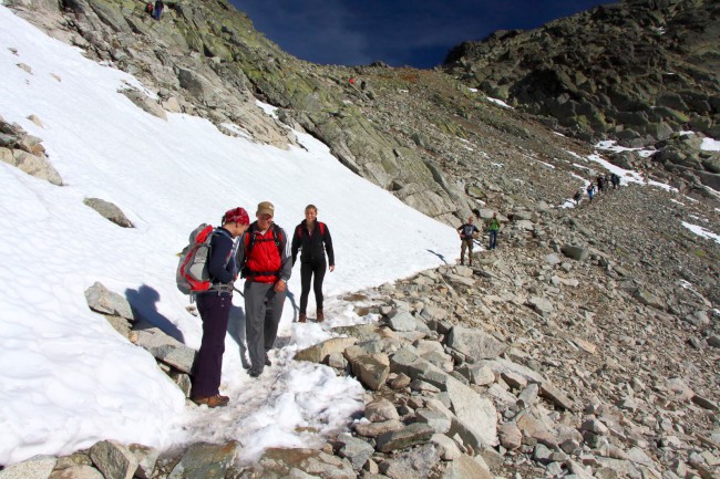
[[[235,441],[225,445],[196,442],[185,451],[167,479],[225,479],[237,448]]]

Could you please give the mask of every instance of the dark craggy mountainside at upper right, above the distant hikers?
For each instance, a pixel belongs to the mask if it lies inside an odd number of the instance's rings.
[[[444,70],[579,138],[654,145],[665,169],[720,189],[717,154],[667,142],[720,137],[719,39],[716,1],[625,0],[462,43]]]

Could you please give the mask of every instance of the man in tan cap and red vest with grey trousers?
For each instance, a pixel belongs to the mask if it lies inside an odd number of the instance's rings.
[[[272,222],[275,206],[263,201],[255,216],[257,221],[243,235],[237,249],[237,263],[245,278],[245,335],[253,377],[271,365],[267,354],[278,334],[292,273],[288,237]]]

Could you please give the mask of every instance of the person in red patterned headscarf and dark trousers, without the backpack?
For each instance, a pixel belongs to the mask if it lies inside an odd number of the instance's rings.
[[[208,407],[225,406],[227,396],[220,396],[225,333],[233,305],[233,283],[238,274],[237,242],[250,223],[244,208],[234,208],[223,216],[222,226],[213,231],[207,271],[210,288],[195,293],[197,311],[203,320],[203,340],[193,366],[191,400]]]

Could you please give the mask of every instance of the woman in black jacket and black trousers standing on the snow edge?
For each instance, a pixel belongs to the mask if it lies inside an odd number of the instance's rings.
[[[308,296],[310,295],[310,280],[312,281],[312,291],[315,292],[315,305],[317,311],[317,321],[321,323],[325,321],[322,312],[322,280],[327,264],[325,262],[325,253],[328,253],[328,262],[330,263],[330,271],[335,271],[335,252],[332,250],[332,238],[327,225],[320,222],[318,219],[318,209],[315,205],[305,207],[305,219],[300,225],[295,228],[292,236],[292,264],[300,252],[300,315],[298,321],[305,323],[307,321]]]

